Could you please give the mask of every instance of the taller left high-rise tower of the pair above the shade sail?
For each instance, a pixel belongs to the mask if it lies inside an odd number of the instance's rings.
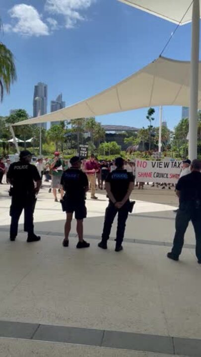
[[[34,87],[33,98],[33,117],[38,115],[47,114],[48,105],[48,86],[45,83],[39,82]],[[42,123],[42,126],[46,129],[47,123]]]

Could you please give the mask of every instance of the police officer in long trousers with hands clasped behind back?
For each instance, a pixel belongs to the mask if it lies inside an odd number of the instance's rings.
[[[98,246],[107,249],[107,240],[110,237],[113,221],[118,213],[117,238],[115,251],[123,249],[122,242],[129,212],[132,211],[134,202],[129,197],[134,188],[134,176],[124,170],[124,159],[119,157],[115,160],[116,170],[108,174],[106,179],[106,191],[109,197],[109,205],[105,212],[105,222],[102,240]]]

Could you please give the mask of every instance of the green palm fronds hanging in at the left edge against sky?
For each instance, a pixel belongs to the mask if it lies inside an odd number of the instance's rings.
[[[0,101],[4,91],[9,94],[10,85],[17,79],[13,54],[0,42]]]

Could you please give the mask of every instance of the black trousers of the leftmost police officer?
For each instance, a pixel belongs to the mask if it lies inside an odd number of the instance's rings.
[[[33,225],[33,214],[36,205],[35,196],[19,197],[12,196],[11,206],[10,206],[10,237],[17,237],[18,232],[18,222],[21,213],[24,209],[24,232],[28,232],[29,235],[34,233]]]

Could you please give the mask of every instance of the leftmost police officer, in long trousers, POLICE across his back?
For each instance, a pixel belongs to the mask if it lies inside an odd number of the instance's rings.
[[[24,232],[28,232],[27,242],[40,240],[34,234],[33,213],[36,204],[36,195],[41,186],[41,178],[37,168],[31,165],[32,154],[28,150],[20,152],[19,161],[10,165],[7,179],[11,185],[12,196],[10,206],[10,240],[17,237],[18,222],[24,209]],[[36,187],[34,186],[36,182]]]

